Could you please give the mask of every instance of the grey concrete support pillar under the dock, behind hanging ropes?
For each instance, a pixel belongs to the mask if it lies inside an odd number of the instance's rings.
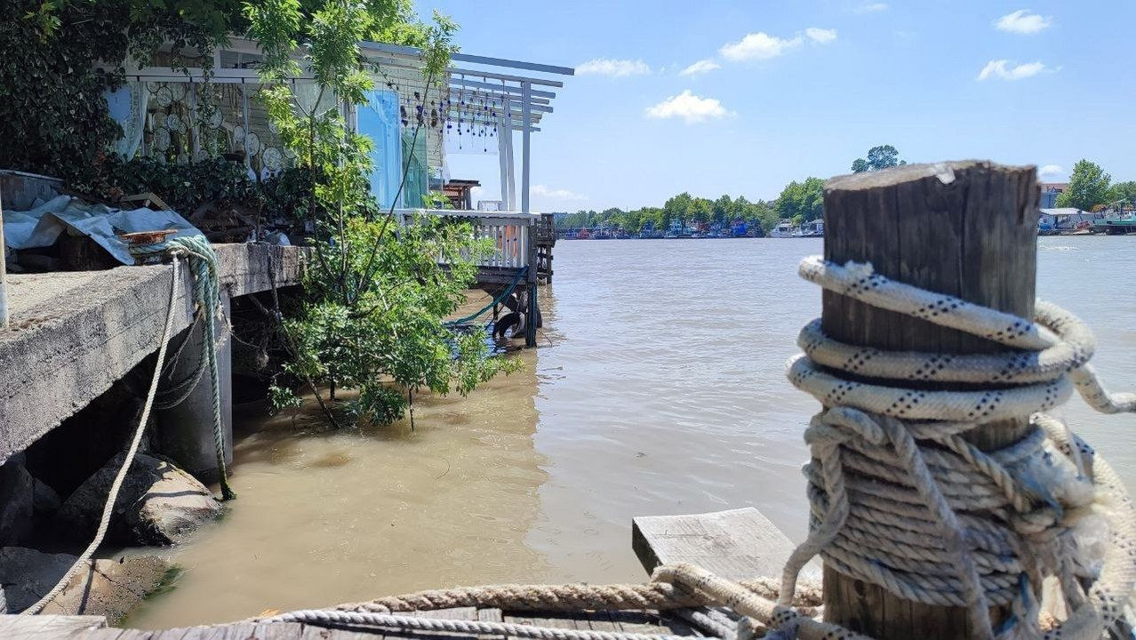
[[[222,309],[229,317],[229,297],[222,294]],[[225,437],[225,466],[233,463],[233,339],[224,318],[214,318],[217,335],[217,369],[220,383],[222,429]],[[170,377],[184,380],[194,371],[201,357],[204,331],[192,324],[185,338],[182,357]],[[214,443],[212,385],[208,368],[197,388],[181,405],[158,412],[158,449],[202,482],[219,480],[217,450]]]

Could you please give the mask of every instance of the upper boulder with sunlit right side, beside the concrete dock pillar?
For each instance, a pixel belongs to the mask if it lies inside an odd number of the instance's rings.
[[[94,534],[122,464],[119,454],[64,500],[56,515],[60,531],[80,540]],[[223,510],[193,476],[167,460],[139,454],[115,501],[107,539],[125,545],[173,545]]]

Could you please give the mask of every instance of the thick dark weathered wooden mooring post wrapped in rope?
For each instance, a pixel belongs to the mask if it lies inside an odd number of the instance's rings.
[[[825,186],[825,258],[871,263],[916,286],[1031,317],[1038,189],[1034,167],[962,161],[909,165],[842,176]],[[824,292],[825,333],[887,350],[980,354],[1004,347]],[[846,374],[842,374],[846,375]],[[927,389],[959,385],[927,384]],[[1019,440],[1028,421],[984,425],[969,439],[984,450]],[[845,474],[855,472],[845,468]],[[974,638],[962,608],[929,606],[824,571],[825,617],[879,640]],[[996,625],[1005,610],[992,612]]]

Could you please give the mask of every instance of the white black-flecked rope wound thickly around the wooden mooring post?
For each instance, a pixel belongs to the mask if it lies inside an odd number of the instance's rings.
[[[819,552],[838,572],[905,599],[967,607],[986,638],[995,637],[989,607],[1000,605],[1013,615],[1005,637],[1100,638],[1136,583],[1136,513],[1111,468],[1043,413],[1074,388],[1102,413],[1136,410],[1136,394],[1110,394],[1088,367],[1095,349],[1088,329],[1053,305],[1038,302],[1029,322],[891,281],[870,265],[812,257],[800,273],[869,305],[1027,351],[887,352],[832,340],[819,321],[802,330],[804,355],[791,359],[788,377],[825,410],[805,432],[815,458],[805,468],[810,535],[786,564],[782,602]],[[832,371],[891,382],[866,384]],[[1013,387],[907,388],[928,381]],[[997,451],[962,437],[979,424],[1030,415],[1034,430]],[[1110,535],[1103,570],[1078,545],[1101,526],[1101,515]],[[1043,633],[1037,613],[1046,576],[1060,581],[1072,613]]]

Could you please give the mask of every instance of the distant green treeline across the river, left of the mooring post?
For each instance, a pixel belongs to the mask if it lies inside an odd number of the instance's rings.
[[[640,233],[644,228],[666,231],[670,221],[684,224],[718,223],[728,230],[734,221],[745,221],[750,226],[760,225],[767,233],[777,226],[777,221],[790,218],[797,224],[824,215],[824,181],[810,177],[804,182],[791,182],[776,200],[751,202],[745,197],[721,196],[717,200],[695,198],[683,192],[667,200],[662,207],[643,207],[624,210],[617,207],[602,211],[576,211],[557,221],[559,228],[593,228],[600,225],[619,227],[628,233]]]

